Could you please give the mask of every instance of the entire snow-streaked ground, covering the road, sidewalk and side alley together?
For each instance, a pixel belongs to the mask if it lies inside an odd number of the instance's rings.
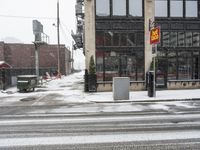
[[[200,90],[84,93],[83,72],[0,93],[0,149],[198,149]]]

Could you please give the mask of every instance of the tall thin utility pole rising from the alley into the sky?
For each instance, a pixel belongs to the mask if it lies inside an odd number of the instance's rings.
[[[57,39],[58,39],[58,76],[60,77],[60,18],[59,18],[59,0],[57,0]]]

